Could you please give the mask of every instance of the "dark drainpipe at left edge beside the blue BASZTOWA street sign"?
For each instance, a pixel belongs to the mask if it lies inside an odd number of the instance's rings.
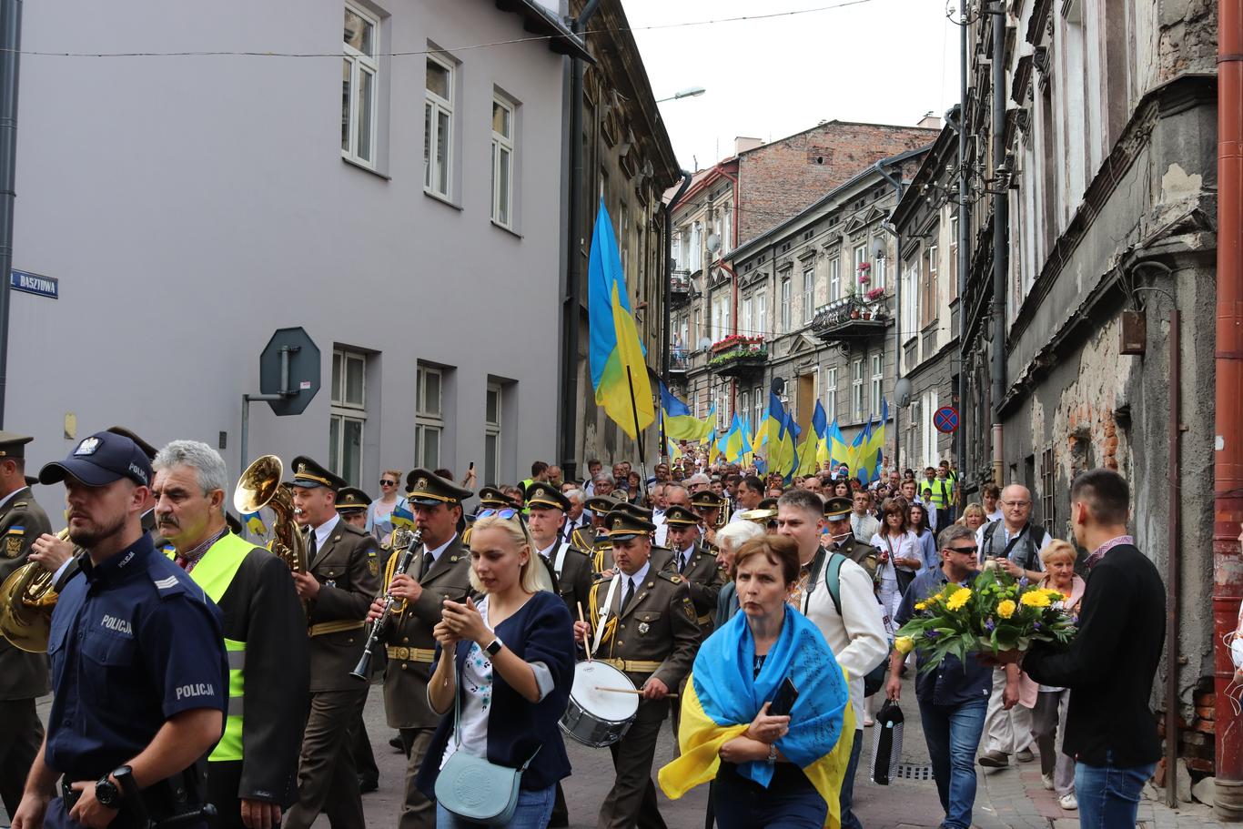
[[[12,214],[16,201],[17,70],[21,57],[21,0],[0,0],[0,426],[9,383],[9,280],[12,272]]]

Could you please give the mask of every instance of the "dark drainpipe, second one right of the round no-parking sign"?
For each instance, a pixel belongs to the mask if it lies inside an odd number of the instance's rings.
[[[993,186],[997,168],[1006,158],[1006,10],[993,15]],[[1006,230],[1009,221],[1007,193],[993,194],[993,483],[1006,480],[1006,454],[1002,446],[1002,398],[1006,395],[1006,271],[1009,250]]]

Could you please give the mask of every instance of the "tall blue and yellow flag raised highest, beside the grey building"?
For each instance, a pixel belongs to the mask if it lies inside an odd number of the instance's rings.
[[[595,214],[592,257],[587,265],[587,357],[595,404],[604,406],[622,431],[636,440],[656,419],[656,410],[651,404],[651,382],[630,312],[613,221],[603,199]]]

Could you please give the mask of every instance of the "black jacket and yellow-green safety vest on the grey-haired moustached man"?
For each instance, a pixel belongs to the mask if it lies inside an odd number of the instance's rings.
[[[206,800],[219,809],[216,829],[242,829],[242,799],[282,809],[298,799],[310,700],[306,614],[286,563],[227,531],[190,578],[220,607],[229,651],[229,710],[208,756]]]

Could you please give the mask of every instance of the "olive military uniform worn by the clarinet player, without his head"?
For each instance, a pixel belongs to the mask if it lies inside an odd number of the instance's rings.
[[[435,552],[435,557],[430,554]],[[385,573],[385,589],[393,580],[397,557]],[[423,766],[440,715],[428,705],[428,680],[434,667],[436,640],[431,635],[443,615],[445,599],[464,602],[471,593],[470,552],[455,536],[444,549],[420,547],[410,566],[410,577],[423,587],[418,602],[408,603],[388,624],[388,670],[384,674],[384,713],[388,725],[401,732],[406,753],[405,802],[400,829],[434,829],[436,804],[414,784]]]

